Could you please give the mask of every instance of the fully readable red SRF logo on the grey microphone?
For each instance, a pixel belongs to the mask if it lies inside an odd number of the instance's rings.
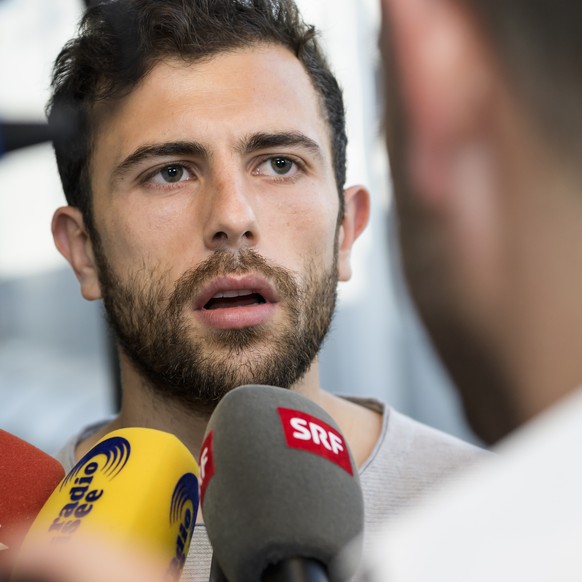
[[[291,408],[278,408],[287,446],[324,457],[353,475],[348,447],[343,436],[315,416]]]

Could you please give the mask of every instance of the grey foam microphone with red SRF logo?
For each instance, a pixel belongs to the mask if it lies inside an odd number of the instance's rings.
[[[356,573],[358,470],[315,403],[273,386],[235,388],[210,417],[199,461],[216,580],[345,582]]]

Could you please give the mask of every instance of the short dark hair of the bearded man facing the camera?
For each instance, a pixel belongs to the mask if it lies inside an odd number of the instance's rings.
[[[87,10],[78,36],[60,52],[47,105],[49,124],[74,120],[72,137],[55,139],[54,147],[67,202],[80,208],[90,230],[94,105],[130,93],[163,58],[199,61],[261,43],[293,52],[320,96],[343,214],[347,136],[342,93],[314,27],[304,23],[293,0],[111,0]]]

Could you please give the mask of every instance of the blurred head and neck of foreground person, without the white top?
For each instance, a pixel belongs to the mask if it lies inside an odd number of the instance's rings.
[[[405,274],[493,442],[582,383],[582,7],[382,6]]]

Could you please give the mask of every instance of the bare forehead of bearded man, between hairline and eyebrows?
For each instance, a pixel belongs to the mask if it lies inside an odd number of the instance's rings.
[[[301,62],[275,45],[201,62],[160,61],[126,97],[96,110],[93,161],[114,164],[144,143],[238,143],[256,132],[301,132],[331,160],[319,94]],[[98,170],[96,164],[93,167]]]

